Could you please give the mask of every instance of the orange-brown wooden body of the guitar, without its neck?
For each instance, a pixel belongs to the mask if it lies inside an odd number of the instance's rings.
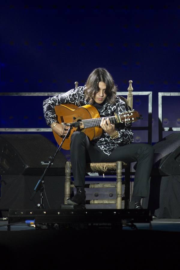
[[[55,106],[55,113],[57,115],[59,124],[72,123],[73,117],[76,118],[74,122],[81,122],[84,119],[100,118],[98,110],[94,106],[91,106],[91,105],[84,105],[82,107],[77,107],[74,104],[61,104],[61,105]],[[74,131],[84,132],[89,137],[90,140],[98,138],[102,134],[101,127],[84,128],[83,125],[79,125],[78,128],[72,128],[69,137],[64,141],[62,145],[63,149],[65,150],[70,149],[70,137]],[[60,137],[54,131],[53,131],[53,134],[54,134],[56,142],[60,145],[62,142],[62,137]]]

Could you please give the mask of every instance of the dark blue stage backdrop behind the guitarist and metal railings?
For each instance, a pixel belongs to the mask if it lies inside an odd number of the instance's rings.
[[[178,2],[5,1],[0,10],[1,92],[63,92],[105,67],[119,91],[132,79],[134,91],[153,92],[152,141],[158,141],[158,92],[180,89]],[[43,99],[0,97],[1,128],[47,127]],[[163,98],[164,126],[180,127],[179,101]],[[134,108],[146,125],[147,97],[134,96]],[[134,138],[147,142],[147,131]]]

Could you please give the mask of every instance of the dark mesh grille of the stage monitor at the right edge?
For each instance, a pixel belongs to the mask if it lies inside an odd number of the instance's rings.
[[[172,133],[156,143],[154,147],[154,163],[172,153],[180,146],[180,132]]]

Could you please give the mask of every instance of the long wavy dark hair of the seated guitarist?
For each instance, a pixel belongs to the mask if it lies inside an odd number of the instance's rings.
[[[102,67],[94,69],[88,76],[84,89],[85,100],[93,103],[95,95],[99,92],[99,82],[106,84],[105,94],[107,95],[107,102],[115,104],[117,87],[114,84],[111,74]]]

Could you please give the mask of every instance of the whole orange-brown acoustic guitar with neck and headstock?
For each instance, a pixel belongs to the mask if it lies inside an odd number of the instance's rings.
[[[100,127],[102,118],[98,110],[92,105],[84,105],[77,107],[74,104],[61,104],[55,106],[55,113],[59,124],[66,125],[72,122],[78,122],[78,127],[73,127],[70,131],[69,137],[64,141],[62,148],[65,150],[70,149],[70,137],[74,131],[84,132],[90,140],[101,136],[103,129]],[[104,117],[109,118],[111,124],[116,123],[129,123],[142,119],[141,115],[137,111],[128,111],[120,115]],[[73,121],[74,119],[74,121]],[[53,130],[52,130],[53,131]],[[59,136],[53,131],[55,140],[58,144],[61,144],[63,137]]]

